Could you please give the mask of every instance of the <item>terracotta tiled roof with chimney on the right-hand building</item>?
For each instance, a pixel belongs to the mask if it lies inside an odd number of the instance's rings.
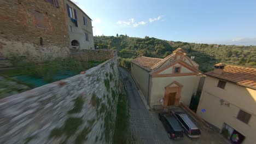
[[[237,85],[256,89],[256,69],[254,68],[226,65],[222,74],[215,74],[213,71],[205,74],[217,77],[219,79],[235,82]]]

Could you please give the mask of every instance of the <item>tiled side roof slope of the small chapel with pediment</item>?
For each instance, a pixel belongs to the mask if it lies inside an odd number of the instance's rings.
[[[152,57],[138,57],[133,59],[131,62],[135,63],[139,67],[142,67],[148,71],[151,71],[151,67],[155,65],[156,63],[162,61],[161,58],[152,58]]]

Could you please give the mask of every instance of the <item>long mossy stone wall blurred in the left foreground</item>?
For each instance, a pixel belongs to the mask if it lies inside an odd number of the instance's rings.
[[[0,100],[0,143],[112,143],[117,57]]]

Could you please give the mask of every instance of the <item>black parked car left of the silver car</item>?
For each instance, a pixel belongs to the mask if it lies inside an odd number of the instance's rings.
[[[161,112],[159,119],[164,125],[170,139],[183,139],[183,129],[172,113]]]

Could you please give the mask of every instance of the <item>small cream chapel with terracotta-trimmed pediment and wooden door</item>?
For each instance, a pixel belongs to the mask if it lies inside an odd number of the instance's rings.
[[[201,76],[198,68],[181,48],[164,59],[138,57],[131,62],[131,74],[150,107],[189,105]]]

